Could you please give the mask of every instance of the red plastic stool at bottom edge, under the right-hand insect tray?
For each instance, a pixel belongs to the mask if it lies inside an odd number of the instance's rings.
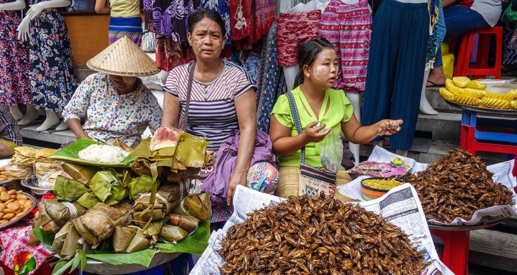
[[[469,237],[470,231],[451,231],[431,229],[431,234],[443,241],[443,254],[440,259],[456,275],[469,274]]]

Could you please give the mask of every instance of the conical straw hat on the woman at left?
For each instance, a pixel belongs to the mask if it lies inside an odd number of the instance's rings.
[[[116,76],[152,76],[160,72],[154,61],[128,36],[106,47],[86,65],[98,72]]]

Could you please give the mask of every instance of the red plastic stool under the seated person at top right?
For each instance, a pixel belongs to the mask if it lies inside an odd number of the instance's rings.
[[[478,40],[478,56],[476,58],[476,66],[469,67],[470,54],[472,52],[472,44],[475,35],[479,35]],[[488,67],[488,55],[490,50],[490,36],[496,36],[496,63],[495,67]],[[460,42],[460,52],[454,65],[454,76],[469,76],[474,78],[484,78],[486,76],[501,77],[501,54],[503,51],[503,28],[485,28],[472,30],[463,34]]]

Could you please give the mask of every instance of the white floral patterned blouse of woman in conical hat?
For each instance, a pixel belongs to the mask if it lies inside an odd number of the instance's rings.
[[[141,82],[135,91],[119,95],[108,74],[97,73],[77,87],[63,118],[86,116],[83,129],[93,140],[113,144],[118,137],[135,148],[148,126],[153,132],[160,127],[162,113],[158,100]]]

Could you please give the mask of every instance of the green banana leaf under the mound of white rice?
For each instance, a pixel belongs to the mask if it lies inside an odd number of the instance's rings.
[[[134,162],[136,157],[132,157],[132,155],[129,155],[126,157],[123,162],[121,163],[103,163],[103,162],[90,162],[87,160],[79,159],[79,151],[83,150],[84,148],[92,145],[92,144],[103,144],[101,142],[96,142],[94,140],[90,140],[85,137],[81,137],[76,142],[69,144],[65,148],[62,148],[61,150],[54,153],[54,155],[51,155],[48,157],[48,159],[54,159],[54,160],[62,160],[64,162],[73,162],[77,164],[87,164],[87,165],[93,165],[93,166],[104,166],[104,167],[130,167],[131,164]]]

